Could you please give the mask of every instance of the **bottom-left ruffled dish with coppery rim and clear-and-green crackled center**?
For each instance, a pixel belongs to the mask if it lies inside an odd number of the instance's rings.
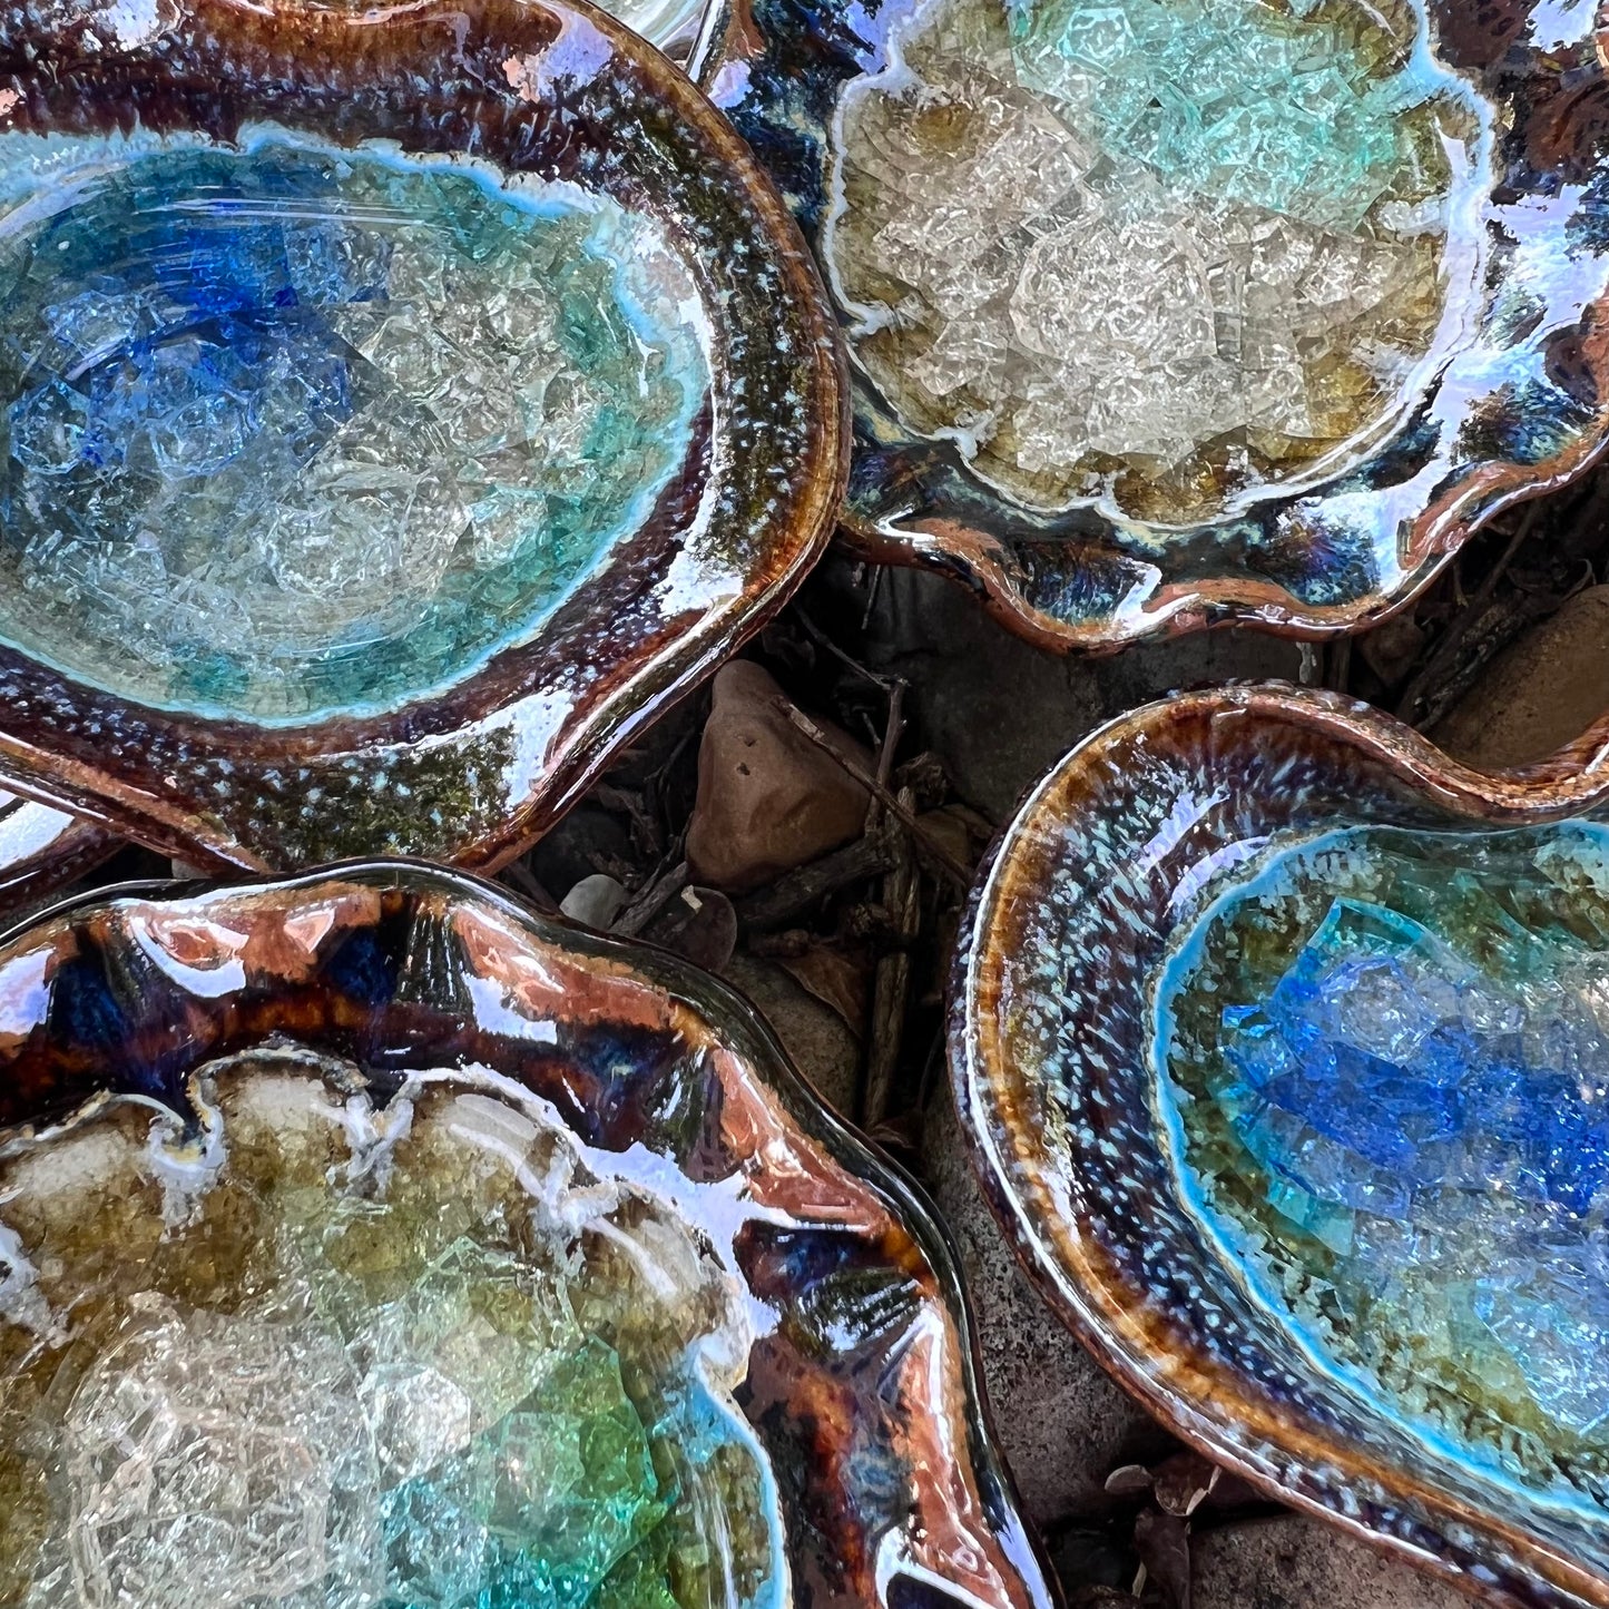
[[[0,1002],[6,1596],[1049,1609],[943,1237],[724,985],[377,862]]]

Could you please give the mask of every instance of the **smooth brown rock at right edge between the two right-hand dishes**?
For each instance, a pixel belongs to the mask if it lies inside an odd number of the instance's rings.
[[[1529,766],[1609,710],[1609,586],[1588,587],[1498,655],[1430,734],[1482,771]]]

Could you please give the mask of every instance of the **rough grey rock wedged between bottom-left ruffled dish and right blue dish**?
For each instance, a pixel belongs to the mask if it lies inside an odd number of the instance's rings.
[[[933,1097],[922,1173],[961,1253],[996,1443],[1028,1517],[1051,1527],[1118,1506],[1105,1477],[1178,1445],[1046,1307],[983,1199],[948,1093]]]

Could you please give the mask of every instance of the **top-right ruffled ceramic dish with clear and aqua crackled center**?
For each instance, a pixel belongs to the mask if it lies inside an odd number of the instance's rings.
[[[1052,648],[1403,602],[1609,420],[1609,82],[1541,0],[726,0],[856,368],[846,526]]]

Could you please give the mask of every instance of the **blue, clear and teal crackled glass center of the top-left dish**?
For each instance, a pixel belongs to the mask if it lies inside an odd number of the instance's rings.
[[[710,388],[692,304],[568,185],[0,138],[0,637],[264,721],[439,690],[650,518]]]

